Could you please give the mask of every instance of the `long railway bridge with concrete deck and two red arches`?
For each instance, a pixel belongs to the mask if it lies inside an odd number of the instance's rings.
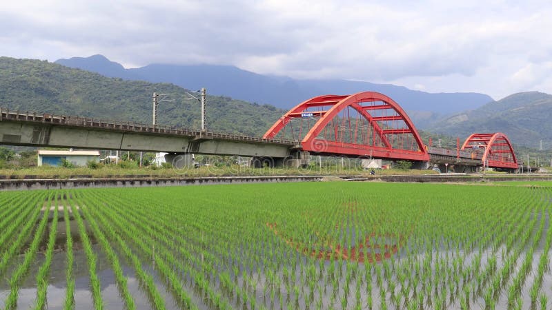
[[[450,165],[517,169],[505,134],[472,134],[456,149],[425,145],[413,122],[393,99],[377,92],[324,95],[299,103],[262,138],[82,116],[1,109],[0,144],[36,147],[250,156],[257,165],[305,165],[312,155],[412,161],[415,167]],[[183,156],[178,156],[183,155]],[[449,167],[450,167],[449,166]]]

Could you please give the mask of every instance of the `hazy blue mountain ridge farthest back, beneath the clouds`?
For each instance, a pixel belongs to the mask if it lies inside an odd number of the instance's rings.
[[[56,61],[70,68],[80,68],[126,80],[173,83],[191,90],[206,87],[209,94],[230,96],[253,103],[268,103],[289,109],[321,94],[354,94],[366,90],[382,92],[397,101],[418,127],[424,127],[442,114],[473,110],[493,101],[486,94],[431,94],[406,87],[362,81],[299,80],[285,76],[266,76],[225,65],[164,65],[125,69],[101,55]]]

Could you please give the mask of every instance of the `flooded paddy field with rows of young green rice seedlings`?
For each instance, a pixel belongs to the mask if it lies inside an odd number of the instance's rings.
[[[552,183],[0,192],[5,309],[550,309]]]

